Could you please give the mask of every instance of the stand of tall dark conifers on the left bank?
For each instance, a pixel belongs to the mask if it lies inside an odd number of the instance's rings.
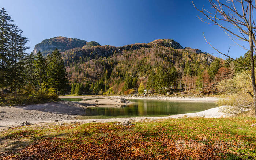
[[[57,100],[67,91],[63,59],[56,49],[46,59],[26,53],[29,39],[22,35],[4,8],[0,11],[0,105]]]

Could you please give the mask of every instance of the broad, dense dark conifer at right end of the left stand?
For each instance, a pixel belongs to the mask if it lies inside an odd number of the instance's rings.
[[[47,60],[48,85],[54,88],[56,94],[63,94],[67,90],[68,79],[60,52],[56,48]]]

